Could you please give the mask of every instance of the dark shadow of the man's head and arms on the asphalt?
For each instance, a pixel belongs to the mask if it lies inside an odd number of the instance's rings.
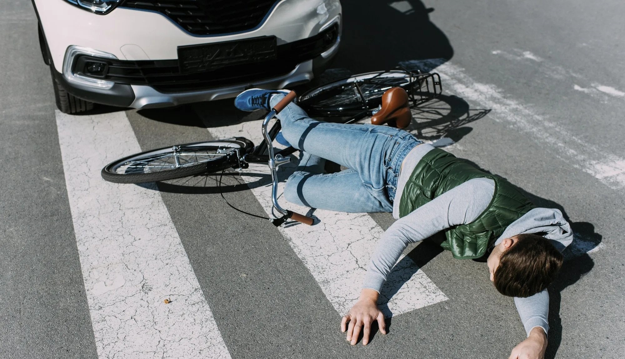
[[[491,173],[488,170],[482,169],[476,163],[471,160],[462,159],[476,168]],[[545,199],[538,195],[534,195],[521,187],[516,187],[527,199],[531,200],[537,207],[554,208],[559,209],[564,215],[564,218],[571,224],[571,229],[574,234],[573,242],[562,252],[564,255],[564,263],[560,270],[559,276],[551,283],[549,288],[549,345],[545,353],[545,358],[554,358],[560,344],[562,342],[562,320],[560,318],[561,307],[561,292],[569,285],[577,282],[580,278],[584,277],[592,267],[594,262],[588,255],[588,251],[596,248],[602,240],[602,235],[597,234],[594,231],[594,225],[589,222],[571,222],[566,210],[562,205],[554,202],[550,199]],[[411,252],[407,253],[401,261],[396,264],[397,268],[401,270],[393,270],[389,273],[389,277],[384,287],[382,287],[381,298],[382,302],[379,302],[380,309],[387,317],[392,315],[391,310],[387,306],[387,300],[395,295],[399,288],[409,280],[411,275],[414,275],[416,271],[430,262],[434,257],[443,251],[440,243],[444,242],[445,236],[442,232],[433,235],[429,239],[426,239],[419,243]],[[478,262],[485,262],[486,256],[476,259]],[[414,265],[412,265],[412,263]],[[411,268],[411,272],[407,273],[406,268]]]

